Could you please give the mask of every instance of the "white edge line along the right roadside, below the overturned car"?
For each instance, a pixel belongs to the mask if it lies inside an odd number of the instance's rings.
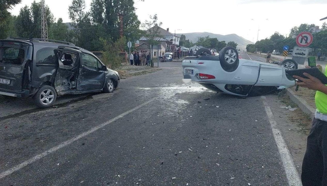
[[[271,112],[270,107],[268,106],[265,96],[261,96],[265,106],[265,110],[269,119],[269,123],[274,134],[274,138],[278,147],[279,154],[283,162],[284,170],[286,173],[286,178],[289,186],[302,186],[301,179],[295,168],[294,161],[291,157],[291,154],[285,144],[281,131],[276,128],[277,122],[274,121],[274,115]]]

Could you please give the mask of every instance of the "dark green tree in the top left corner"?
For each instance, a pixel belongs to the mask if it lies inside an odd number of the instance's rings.
[[[0,39],[13,36],[13,17],[8,10],[19,3],[21,0],[0,0]]]

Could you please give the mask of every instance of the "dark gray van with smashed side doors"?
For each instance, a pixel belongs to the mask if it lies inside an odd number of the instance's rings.
[[[29,97],[51,107],[57,95],[111,93],[119,85],[116,71],[92,52],[70,42],[7,38],[0,40],[0,94]]]

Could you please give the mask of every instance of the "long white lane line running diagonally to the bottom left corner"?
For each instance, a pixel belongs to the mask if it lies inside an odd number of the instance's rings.
[[[145,105],[151,103],[151,102],[154,101],[155,99],[156,99],[156,98],[150,99],[149,101],[146,101],[146,102],[142,103],[141,105],[135,107],[135,108],[132,109],[132,110],[126,111],[126,112],[124,112],[124,113],[122,113],[122,114],[120,114],[120,115],[118,115],[118,116],[112,118],[111,120],[109,120],[109,121],[107,121],[107,122],[105,122],[105,123],[102,123],[102,124],[100,124],[100,125],[98,125],[98,126],[92,128],[92,129],[90,129],[90,130],[88,130],[88,131],[86,131],[86,132],[83,132],[83,133],[79,134],[78,136],[76,136],[76,137],[74,137],[74,138],[72,138],[72,139],[70,139],[70,140],[67,140],[67,141],[65,141],[65,142],[63,142],[63,143],[61,143],[61,144],[59,144],[59,145],[57,145],[57,146],[54,146],[54,147],[50,148],[49,150],[47,150],[47,151],[45,151],[45,152],[43,152],[43,153],[41,153],[41,154],[38,154],[38,155],[32,157],[31,159],[26,160],[26,161],[22,162],[21,164],[19,164],[19,165],[17,165],[17,166],[14,166],[14,167],[10,168],[10,169],[7,170],[7,171],[2,172],[2,173],[0,174],[0,179],[4,178],[4,177],[6,177],[6,176],[9,176],[9,175],[12,174],[13,172],[19,171],[20,169],[26,167],[27,165],[29,165],[29,164],[31,164],[31,163],[33,163],[33,162],[35,162],[35,161],[38,161],[38,160],[40,160],[41,158],[43,158],[43,157],[45,157],[45,156],[47,156],[47,155],[50,155],[50,154],[56,152],[57,150],[61,149],[62,147],[65,147],[65,146],[67,146],[67,145],[69,145],[69,144],[71,144],[71,143],[73,143],[73,142],[75,142],[75,141],[77,141],[77,140],[79,140],[79,139],[81,139],[81,138],[83,138],[83,137],[85,137],[85,136],[87,136],[87,135],[89,135],[89,134],[91,134],[91,133],[93,133],[93,132],[99,130],[100,128],[105,127],[105,126],[111,124],[112,122],[114,122],[114,121],[116,121],[116,120],[118,120],[118,119],[124,117],[126,114],[129,114],[129,113],[131,113],[131,112],[133,112],[133,111],[135,111],[135,110],[138,110],[138,109],[144,107]]]

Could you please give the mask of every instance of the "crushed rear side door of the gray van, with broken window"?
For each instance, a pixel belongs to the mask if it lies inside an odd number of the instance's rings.
[[[59,67],[55,77],[55,89],[59,95],[73,93],[76,91],[80,51],[62,47],[58,47],[58,51]]]

